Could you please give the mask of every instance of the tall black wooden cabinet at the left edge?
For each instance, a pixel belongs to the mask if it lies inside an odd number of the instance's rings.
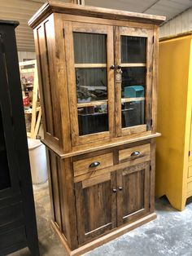
[[[15,42],[18,24],[0,20],[0,255],[28,246],[37,256],[37,225]]]

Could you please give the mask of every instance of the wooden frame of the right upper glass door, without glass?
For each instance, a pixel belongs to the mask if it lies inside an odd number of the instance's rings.
[[[142,29],[133,27],[115,27],[115,64],[121,65],[120,60],[120,36],[133,36],[147,38],[146,41],[146,102],[145,102],[145,121],[146,124],[122,128],[121,126],[121,82],[115,82],[116,87],[116,137],[132,135],[147,130],[151,133],[152,118],[152,82],[153,82],[153,29]]]

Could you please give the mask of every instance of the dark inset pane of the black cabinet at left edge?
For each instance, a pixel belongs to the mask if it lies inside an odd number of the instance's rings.
[[[2,112],[0,108],[0,190],[11,187],[7,151],[2,127]]]

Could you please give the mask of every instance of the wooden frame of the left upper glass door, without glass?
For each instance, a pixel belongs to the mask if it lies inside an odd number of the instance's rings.
[[[90,143],[103,139],[111,139],[115,135],[114,126],[114,70],[110,67],[114,64],[113,54],[113,27],[103,24],[87,24],[83,22],[64,21],[67,73],[68,73],[68,95],[70,104],[72,145]],[[74,64],[72,32],[101,33],[107,35],[107,95],[108,95],[108,126],[109,130],[91,135],[79,135],[77,102],[76,102],[76,75]]]

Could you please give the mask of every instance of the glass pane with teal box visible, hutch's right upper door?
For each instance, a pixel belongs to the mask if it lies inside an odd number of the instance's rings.
[[[121,97],[138,98],[145,96],[146,68],[122,68]]]

